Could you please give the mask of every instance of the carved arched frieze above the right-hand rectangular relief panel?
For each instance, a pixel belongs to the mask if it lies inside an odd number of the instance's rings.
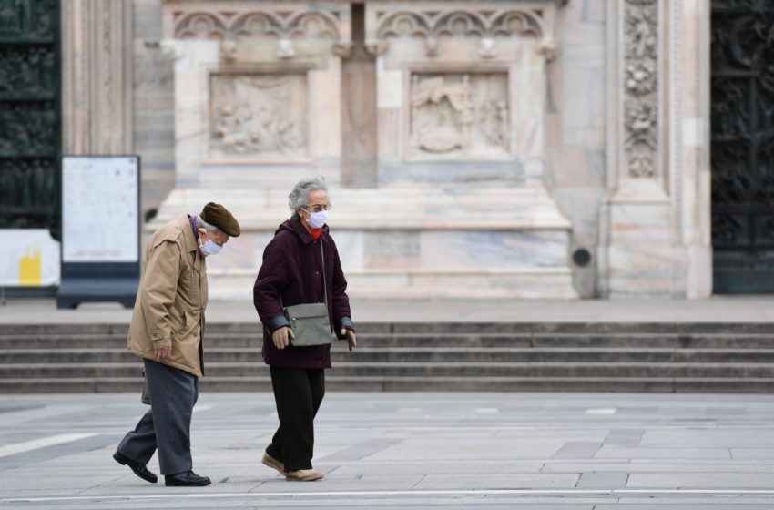
[[[377,37],[422,37],[427,56],[438,55],[442,36],[480,38],[479,54],[484,58],[497,54],[498,36],[535,36],[541,39],[548,36],[539,9],[400,10],[377,12],[377,18]]]

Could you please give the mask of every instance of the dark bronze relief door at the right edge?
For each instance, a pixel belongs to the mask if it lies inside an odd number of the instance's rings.
[[[774,8],[712,2],[714,292],[774,292]]]

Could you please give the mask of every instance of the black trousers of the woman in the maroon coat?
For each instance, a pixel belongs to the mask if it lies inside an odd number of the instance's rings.
[[[325,370],[269,368],[280,427],[266,453],[284,463],[286,471],[311,469],[314,417],[325,396]]]

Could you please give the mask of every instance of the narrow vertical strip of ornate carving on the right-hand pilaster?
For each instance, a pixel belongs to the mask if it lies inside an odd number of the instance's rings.
[[[658,145],[658,4],[625,0],[624,149],[629,177],[653,178]]]

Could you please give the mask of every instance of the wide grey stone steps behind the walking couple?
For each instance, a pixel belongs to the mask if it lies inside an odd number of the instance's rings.
[[[126,325],[7,325],[0,392],[137,392]],[[774,324],[367,323],[329,390],[774,391]],[[256,323],[209,324],[202,391],[270,391]]]

